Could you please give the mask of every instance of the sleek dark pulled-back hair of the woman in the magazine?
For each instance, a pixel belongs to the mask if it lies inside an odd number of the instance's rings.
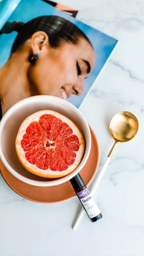
[[[25,24],[20,22],[6,23],[1,34],[2,32],[9,33],[12,31],[17,31],[18,35],[13,43],[11,54],[20,48],[37,31],[44,31],[48,35],[49,44],[53,48],[58,47],[62,42],[69,42],[76,45],[81,37],[85,38],[92,45],[81,29],[60,16],[39,16]]]

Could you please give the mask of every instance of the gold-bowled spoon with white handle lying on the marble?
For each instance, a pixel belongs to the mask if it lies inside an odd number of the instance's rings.
[[[94,194],[96,189],[98,188],[99,182],[106,171],[106,168],[110,161],[110,156],[112,155],[113,148],[118,142],[127,142],[130,141],[137,133],[139,129],[139,122],[137,117],[134,114],[128,111],[119,112],[113,116],[109,124],[109,131],[110,135],[115,140],[109,154],[107,155],[107,159],[99,171],[99,174],[96,177],[96,180],[93,182],[92,188],[90,192]],[[73,224],[73,229],[76,229],[77,225],[79,224],[83,214],[85,213],[84,208],[82,207],[79,211],[76,221]]]

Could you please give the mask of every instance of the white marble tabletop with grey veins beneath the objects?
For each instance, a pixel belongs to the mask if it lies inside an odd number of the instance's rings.
[[[15,194],[0,177],[0,255],[144,255],[144,1],[61,0],[80,10],[77,18],[119,40],[103,73],[81,106],[98,137],[100,166],[113,144],[109,120],[119,111],[139,119],[139,133],[118,144],[95,195],[103,219],[86,214],[71,229],[77,198],[48,205]]]

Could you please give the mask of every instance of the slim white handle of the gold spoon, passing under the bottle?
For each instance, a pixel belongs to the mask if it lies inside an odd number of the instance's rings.
[[[103,175],[104,175],[104,172],[105,172],[106,169],[107,169],[107,166],[108,166],[108,164],[109,164],[109,161],[110,161],[110,157],[107,156],[106,161],[105,161],[104,164],[103,164],[103,167],[102,167],[101,170],[99,171],[99,173],[98,173],[98,175],[97,175],[95,181],[93,182],[92,188],[90,189],[90,192],[92,193],[92,195],[95,193],[96,189],[98,188],[98,185],[99,185],[99,183],[100,183],[100,181],[101,181],[101,179],[102,179],[102,177],[103,177]],[[75,221],[74,224],[73,224],[73,229],[74,229],[74,230],[76,229],[77,225],[78,225],[79,222],[81,221],[82,216],[84,215],[84,213],[85,213],[85,210],[84,210],[84,208],[82,207],[81,210],[79,211],[79,214],[77,215],[76,221]]]

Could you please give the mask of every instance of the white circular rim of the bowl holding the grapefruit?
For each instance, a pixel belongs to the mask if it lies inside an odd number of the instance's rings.
[[[28,98],[24,98],[21,101],[18,101],[17,103],[13,104],[13,106],[11,108],[9,108],[7,110],[7,112],[5,112],[5,114],[3,115],[1,122],[0,122],[0,141],[1,141],[1,136],[2,136],[2,131],[4,128],[5,123],[7,122],[7,120],[9,120],[10,115],[18,108],[18,106],[23,106],[23,104],[28,103],[32,103],[33,100],[40,100],[41,99],[45,99],[48,100],[56,100],[61,102],[62,104],[65,104],[65,106],[70,106],[70,108],[73,108],[74,111],[78,112],[82,121],[85,124],[85,127],[87,128],[87,137],[88,137],[88,141],[89,144],[87,145],[87,155],[85,156],[84,159],[82,159],[81,163],[79,164],[79,166],[70,174],[56,179],[56,180],[51,180],[51,181],[37,181],[37,180],[31,180],[30,178],[24,177],[21,174],[18,174],[18,172],[16,172],[15,169],[13,169],[13,167],[10,166],[10,164],[7,162],[7,160],[5,159],[4,153],[2,152],[2,148],[0,147],[0,159],[2,161],[2,163],[4,164],[4,166],[6,167],[6,169],[16,178],[18,178],[19,180],[23,181],[24,183],[27,183],[29,185],[33,185],[33,186],[42,186],[42,187],[46,187],[46,186],[56,186],[56,185],[60,185],[68,180],[70,180],[71,178],[73,178],[76,174],[78,174],[81,169],[84,167],[85,163],[87,162],[88,156],[90,155],[90,149],[91,149],[91,144],[92,144],[92,138],[91,138],[91,134],[90,134],[90,128],[89,125],[87,123],[87,120],[85,119],[84,115],[82,115],[81,111],[79,111],[79,109],[77,109],[73,104],[71,104],[70,102],[63,100],[62,98],[56,97],[56,96],[51,96],[51,95],[35,95],[32,97],[28,97]],[[1,142],[0,142],[1,145]]]

